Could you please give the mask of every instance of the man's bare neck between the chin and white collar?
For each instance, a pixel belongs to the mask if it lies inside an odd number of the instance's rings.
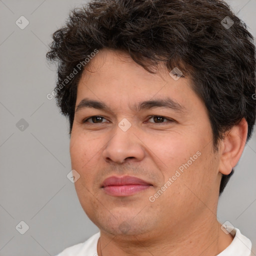
[[[165,226],[170,225],[166,223]],[[171,228],[165,227],[164,230],[154,230],[143,235],[112,235],[101,230],[97,253],[98,256],[214,256],[223,251],[233,239],[220,226],[212,214],[211,219],[197,218],[187,223],[182,221],[182,226],[177,223]]]

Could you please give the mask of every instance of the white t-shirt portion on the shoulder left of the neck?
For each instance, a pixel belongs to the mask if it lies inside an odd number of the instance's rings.
[[[88,256],[96,256],[97,241],[99,236],[100,236],[100,232],[93,234],[85,242],[81,242],[81,243],[72,245],[68,248],[65,248],[62,252],[60,252],[56,256],[80,256],[80,255],[84,255],[85,252],[86,252],[86,255]]]

